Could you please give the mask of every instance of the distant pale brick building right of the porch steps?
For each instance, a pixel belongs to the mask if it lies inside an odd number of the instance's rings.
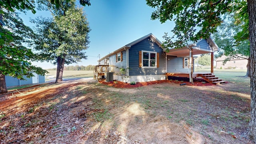
[[[227,58],[227,56],[222,56],[220,58],[216,59],[216,68],[220,69],[239,69],[239,70],[246,70],[246,65],[248,63],[248,60],[244,58],[235,58],[231,59],[230,61],[227,61],[226,64],[222,64],[223,61]]]

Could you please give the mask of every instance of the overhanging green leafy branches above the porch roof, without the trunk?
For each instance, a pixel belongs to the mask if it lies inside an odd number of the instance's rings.
[[[156,8],[152,13],[152,20],[174,21],[176,26],[172,30],[177,40],[164,37],[164,46],[182,47],[188,41],[196,42],[200,38],[208,38],[216,32],[217,26],[222,22],[222,14],[231,12],[233,0],[146,0],[148,6]]]

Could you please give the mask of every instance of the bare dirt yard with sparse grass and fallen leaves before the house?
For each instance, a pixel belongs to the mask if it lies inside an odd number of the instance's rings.
[[[0,143],[252,144],[249,85],[179,83],[82,78],[12,90],[0,95]]]

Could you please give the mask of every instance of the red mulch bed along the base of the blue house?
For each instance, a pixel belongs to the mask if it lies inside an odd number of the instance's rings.
[[[113,82],[106,82],[105,80],[100,80],[99,81],[101,84],[106,84],[108,86],[112,86],[115,88],[138,88],[141,86],[148,86],[152,84],[162,84],[162,83],[175,83],[175,84],[186,84],[188,86],[214,86],[215,84],[210,84],[210,83],[204,83],[201,82],[201,80],[195,81],[194,84],[190,82],[182,82],[182,81],[177,81],[177,80],[156,80],[156,81],[151,81],[151,82],[136,82],[135,85],[131,85],[129,83],[125,82],[120,82],[120,81],[113,81]]]

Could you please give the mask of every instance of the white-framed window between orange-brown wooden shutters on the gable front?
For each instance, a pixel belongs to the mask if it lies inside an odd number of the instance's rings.
[[[156,68],[157,53],[142,50],[142,68]]]

